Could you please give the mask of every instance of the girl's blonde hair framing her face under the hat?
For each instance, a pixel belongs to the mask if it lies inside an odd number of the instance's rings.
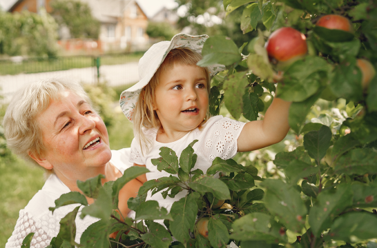
[[[155,103],[155,89],[159,83],[160,74],[165,70],[170,70],[174,65],[191,65],[197,66],[196,63],[202,59],[202,55],[195,52],[189,48],[175,48],[171,50],[166,56],[164,62],[157,69],[156,73],[153,75],[151,81],[142,89],[139,94],[139,99],[135,105],[134,110],[134,121],[133,121],[133,132],[135,137],[139,139],[140,147],[142,148],[142,153],[144,154],[144,149],[146,152],[150,149],[152,142],[146,138],[143,130],[148,130],[152,127],[160,127],[161,123],[153,110],[153,105]],[[197,66],[198,68],[201,68]],[[209,68],[201,68],[206,74],[207,81],[207,91],[208,94],[211,91],[211,78]],[[207,109],[206,118],[202,121],[199,127],[201,127],[209,119],[209,110]]]

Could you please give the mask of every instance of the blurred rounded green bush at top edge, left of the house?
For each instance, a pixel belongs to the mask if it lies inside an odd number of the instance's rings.
[[[72,38],[98,39],[100,23],[93,17],[88,3],[77,0],[53,0],[50,5],[55,20],[70,30]]]

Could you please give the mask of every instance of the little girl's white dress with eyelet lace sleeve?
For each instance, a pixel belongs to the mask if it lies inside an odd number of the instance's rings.
[[[146,168],[151,171],[146,174],[148,180],[170,176],[171,174],[168,174],[168,172],[159,172],[157,166],[152,164],[151,159],[160,157],[160,147],[169,147],[173,149],[179,158],[182,151],[191,142],[197,139],[197,143],[193,146],[195,154],[197,154],[197,162],[193,169],[202,169],[204,174],[206,174],[206,170],[212,165],[212,161],[216,157],[229,159],[237,154],[237,139],[245,124],[246,123],[234,121],[223,116],[213,116],[209,118],[204,127],[195,128],[195,130],[172,143],[157,142],[157,129],[150,129],[147,130],[145,134],[153,143],[153,147],[148,154],[145,154],[144,152],[145,156],[143,156],[139,141],[134,138],[131,144],[130,162],[137,163],[138,165],[146,165]],[[161,193],[151,196],[151,192],[148,192],[146,200],[157,200],[160,207],[165,207],[170,211],[171,205],[184,196],[186,196],[186,192],[182,191],[174,198],[166,197],[166,199],[164,199]]]

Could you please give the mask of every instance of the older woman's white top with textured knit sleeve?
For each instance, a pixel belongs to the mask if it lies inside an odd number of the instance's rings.
[[[117,151],[111,151],[112,158],[110,160],[122,174],[124,170],[132,166],[128,162],[130,148],[124,148]],[[22,245],[23,238],[30,232],[34,232],[30,248],[40,248],[50,245],[51,238],[56,237],[60,229],[60,220],[66,214],[77,207],[77,204],[59,207],[54,214],[48,210],[48,207],[55,207],[55,200],[62,194],[70,192],[70,189],[55,174],[52,174],[43,185],[42,189],[33,196],[26,205],[25,209],[19,211],[19,218],[14,227],[12,236],[6,243],[6,248],[19,248]],[[81,207],[82,208],[82,207]],[[80,210],[81,210],[80,208]],[[131,211],[128,216],[133,216],[135,212]],[[95,223],[97,218],[86,216],[84,219],[80,217],[80,211],[76,217],[76,238],[77,243],[80,242],[81,235],[88,226]]]

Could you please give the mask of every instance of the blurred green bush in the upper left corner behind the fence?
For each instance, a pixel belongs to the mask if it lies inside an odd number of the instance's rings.
[[[40,14],[0,11],[0,54],[55,56],[57,23],[46,10]]]

